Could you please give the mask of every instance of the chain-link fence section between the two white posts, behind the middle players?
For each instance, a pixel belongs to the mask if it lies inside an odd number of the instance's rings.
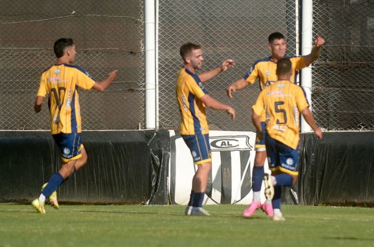
[[[226,96],[226,87],[242,78],[253,63],[269,57],[267,38],[275,31],[287,37],[288,55],[296,54],[297,17],[295,0],[160,0],[159,6],[159,94],[160,126],[177,128],[180,116],[175,99],[175,81],[183,66],[179,48],[188,41],[203,46],[203,70],[220,66],[233,58],[237,67],[208,81],[209,94],[236,108],[232,122],[223,111],[207,111],[211,129],[254,130],[250,120],[251,106],[260,90],[251,85]]]

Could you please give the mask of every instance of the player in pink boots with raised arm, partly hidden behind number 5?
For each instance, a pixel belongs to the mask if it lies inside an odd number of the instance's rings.
[[[275,32],[269,35],[269,50],[271,51],[271,56],[257,60],[249,72],[245,76],[231,85],[226,89],[227,96],[233,98],[232,93],[237,90],[241,90],[250,84],[253,84],[257,78],[259,78],[260,89],[263,90],[265,87],[269,86],[271,83],[276,81],[277,74],[277,62],[279,59],[286,57],[287,44],[284,36],[281,33]],[[314,60],[316,60],[320,54],[321,47],[325,43],[325,40],[317,35],[314,40],[314,48],[309,55],[303,57],[290,57],[292,63],[292,74],[289,78],[291,82],[296,83],[296,77],[298,71],[302,68],[309,66]],[[262,122],[262,128],[265,126],[265,115],[260,118]],[[255,164],[252,172],[252,190],[253,190],[253,201],[244,210],[243,216],[250,217],[254,214],[257,209],[262,208],[262,210],[268,215],[273,216],[273,208],[270,200],[267,200],[263,205],[260,201],[260,190],[262,186],[263,177],[263,165],[266,159],[266,148],[265,148],[265,137],[266,133],[262,135],[262,138],[256,137],[256,155]]]

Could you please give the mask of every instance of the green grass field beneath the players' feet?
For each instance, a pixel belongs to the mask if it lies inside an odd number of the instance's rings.
[[[284,222],[243,205],[205,206],[210,217],[185,216],[185,206],[0,204],[0,246],[374,246],[374,209],[282,206]]]

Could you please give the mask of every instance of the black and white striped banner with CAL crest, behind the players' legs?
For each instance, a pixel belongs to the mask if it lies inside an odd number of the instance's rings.
[[[254,132],[209,132],[212,171],[208,178],[204,204],[249,204],[252,201],[250,191],[255,138]],[[170,145],[170,201],[172,204],[187,205],[197,166],[179,133],[170,131]]]

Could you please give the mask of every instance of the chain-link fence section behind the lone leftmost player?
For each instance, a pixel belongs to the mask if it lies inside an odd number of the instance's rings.
[[[0,8],[0,129],[50,129],[47,103],[35,114],[41,72],[58,38],[73,38],[75,64],[102,80],[103,93],[79,90],[85,130],[135,129],[144,122],[143,1],[4,0]]]

